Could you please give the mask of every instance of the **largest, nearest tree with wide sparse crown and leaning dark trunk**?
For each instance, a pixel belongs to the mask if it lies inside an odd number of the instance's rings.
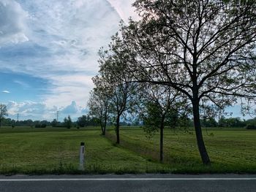
[[[121,27],[122,51],[135,82],[168,85],[191,101],[203,164],[210,158],[200,111],[256,98],[255,1],[151,1],[134,4],[141,20]],[[247,106],[245,102],[247,101]]]

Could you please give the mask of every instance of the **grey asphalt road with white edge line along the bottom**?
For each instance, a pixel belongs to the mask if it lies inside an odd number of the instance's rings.
[[[0,191],[197,191],[255,192],[256,175],[125,174],[0,176]]]

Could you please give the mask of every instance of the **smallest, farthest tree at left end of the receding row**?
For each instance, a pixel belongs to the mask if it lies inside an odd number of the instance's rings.
[[[110,96],[105,93],[104,88],[97,84],[97,78],[94,78],[94,83],[97,85],[94,91],[91,92],[91,96],[88,102],[90,115],[99,120],[100,127],[102,129],[102,135],[106,134],[106,126],[109,118],[110,108]]]

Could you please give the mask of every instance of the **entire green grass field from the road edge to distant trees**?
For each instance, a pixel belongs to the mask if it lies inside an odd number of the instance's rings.
[[[0,174],[82,173],[256,173],[256,131],[204,131],[211,166],[203,166],[195,134],[165,130],[165,163],[159,164],[159,134],[147,139],[141,128],[121,128],[107,138],[99,128],[0,128]],[[78,171],[80,142],[86,143],[86,167]]]

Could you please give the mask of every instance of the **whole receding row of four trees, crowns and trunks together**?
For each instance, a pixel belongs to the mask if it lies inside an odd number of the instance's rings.
[[[210,164],[202,119],[241,102],[253,112],[256,99],[255,1],[137,0],[140,20],[121,23],[108,50],[99,50],[89,107],[105,134],[108,119],[137,112],[149,127],[163,129],[191,117],[203,164]],[[180,122],[179,122],[180,121]],[[162,160],[162,154],[161,154]]]

